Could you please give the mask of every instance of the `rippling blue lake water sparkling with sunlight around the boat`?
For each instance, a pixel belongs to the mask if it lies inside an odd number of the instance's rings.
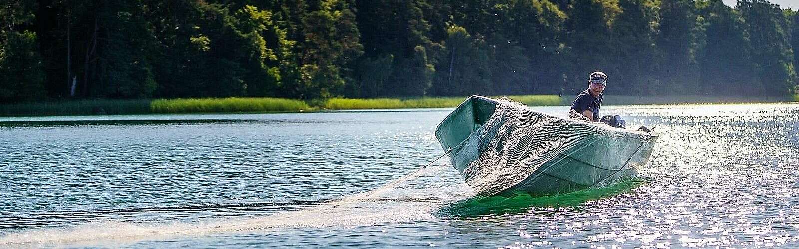
[[[0,117],[0,247],[799,245],[799,104],[603,107],[638,178],[510,200],[420,169],[450,111]]]

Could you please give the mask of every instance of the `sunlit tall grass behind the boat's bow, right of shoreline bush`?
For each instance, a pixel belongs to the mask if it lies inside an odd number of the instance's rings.
[[[508,96],[526,105],[563,105],[558,95],[514,95]],[[331,98],[324,101],[324,109],[400,109],[455,107],[467,97],[416,97],[416,98]]]

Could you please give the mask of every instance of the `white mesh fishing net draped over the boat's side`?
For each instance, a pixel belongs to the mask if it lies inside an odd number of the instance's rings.
[[[497,102],[486,124],[472,133],[450,158],[469,162],[462,176],[480,196],[494,196],[533,176],[543,164],[583,141],[614,132],[537,113],[512,101]],[[572,111],[574,119],[587,118]],[[476,160],[474,160],[476,158]]]

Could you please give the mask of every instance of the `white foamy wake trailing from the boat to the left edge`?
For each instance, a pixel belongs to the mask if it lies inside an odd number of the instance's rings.
[[[284,227],[353,227],[435,220],[438,219],[434,215],[435,211],[443,205],[475,196],[463,181],[441,179],[442,176],[458,176],[450,171],[454,169],[448,164],[439,164],[372,191],[315,204],[302,210],[191,222],[100,221],[71,227],[37,228],[2,235],[0,247],[133,243],[177,236]]]

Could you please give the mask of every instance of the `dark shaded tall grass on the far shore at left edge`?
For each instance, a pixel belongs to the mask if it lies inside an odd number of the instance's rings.
[[[149,100],[79,100],[0,105],[0,116],[150,113]]]

